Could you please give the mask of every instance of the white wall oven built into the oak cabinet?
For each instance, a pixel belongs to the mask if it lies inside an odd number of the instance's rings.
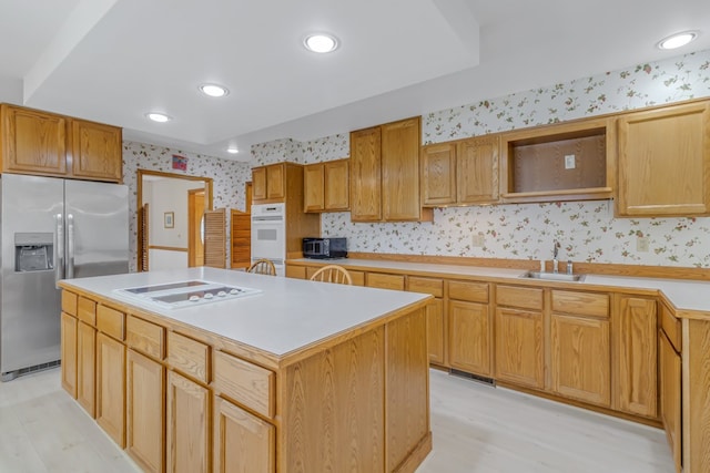
[[[274,264],[278,276],[285,276],[285,204],[252,205],[252,263],[262,258]]]

